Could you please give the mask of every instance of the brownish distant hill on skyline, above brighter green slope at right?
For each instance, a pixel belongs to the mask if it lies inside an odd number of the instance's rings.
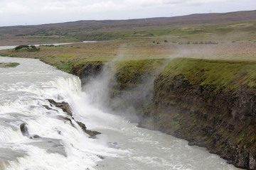
[[[169,35],[166,30],[241,22],[256,22],[256,11],[203,13],[188,16],[131,20],[75,21],[38,26],[0,27],[0,45],[5,43],[112,40]],[[162,33],[155,33],[161,30]],[[162,31],[164,30],[164,31]],[[159,31],[158,31],[159,32]]]

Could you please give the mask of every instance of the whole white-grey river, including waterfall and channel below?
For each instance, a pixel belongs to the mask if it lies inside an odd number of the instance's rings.
[[[20,63],[0,68],[1,170],[236,169],[206,149],[101,111],[78,77],[39,60],[0,57],[0,62]],[[75,120],[102,134],[89,137],[48,99],[69,103]]]

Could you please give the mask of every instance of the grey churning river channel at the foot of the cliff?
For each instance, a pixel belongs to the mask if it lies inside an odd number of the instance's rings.
[[[137,123],[130,123],[122,116],[104,113],[90,103],[86,94],[77,104],[85,111],[76,115],[86,120],[87,126],[102,132],[99,141],[107,142],[108,147],[120,149],[120,157],[107,157],[98,163],[100,170],[235,170],[218,155],[210,154],[205,148],[189,146],[181,140],[159,131],[138,128]]]

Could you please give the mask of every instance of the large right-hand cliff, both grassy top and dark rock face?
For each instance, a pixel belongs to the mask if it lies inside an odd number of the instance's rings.
[[[178,58],[154,81],[142,127],[256,168],[255,62]]]

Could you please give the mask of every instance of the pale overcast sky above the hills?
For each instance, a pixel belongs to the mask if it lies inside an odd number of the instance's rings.
[[[0,26],[256,10],[256,0],[0,0]]]

